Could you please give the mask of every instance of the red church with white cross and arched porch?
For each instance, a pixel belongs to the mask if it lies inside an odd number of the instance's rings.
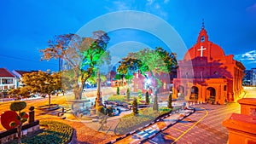
[[[224,50],[208,40],[204,26],[195,45],[179,60],[177,78],[173,80],[172,97],[224,104],[241,95],[245,67],[225,55]]]

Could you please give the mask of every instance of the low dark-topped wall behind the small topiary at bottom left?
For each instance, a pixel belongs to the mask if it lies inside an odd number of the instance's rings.
[[[39,130],[39,120],[29,124],[24,124],[22,126],[22,135],[31,134],[38,130]],[[0,133],[0,144],[13,141],[15,140],[16,137],[17,137],[17,128],[3,131]]]

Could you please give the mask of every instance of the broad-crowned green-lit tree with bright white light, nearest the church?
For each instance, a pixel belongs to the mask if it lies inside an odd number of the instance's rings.
[[[169,73],[172,69],[177,68],[176,55],[168,53],[162,48],[142,49],[137,53],[130,53],[122,59],[118,72],[141,72],[145,77],[145,72],[150,72],[152,78],[155,79],[154,86],[148,85],[149,89],[154,92],[154,110],[158,111],[158,90],[162,87],[162,83],[158,76],[161,72]]]

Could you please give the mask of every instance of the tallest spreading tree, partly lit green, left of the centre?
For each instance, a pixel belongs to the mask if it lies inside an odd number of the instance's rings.
[[[40,52],[43,53],[43,60],[52,58],[64,60],[64,67],[73,71],[72,89],[75,99],[80,100],[87,79],[99,66],[110,63],[110,55],[106,52],[108,41],[108,34],[102,31],[93,32],[92,37],[65,34],[49,40],[49,47],[41,49]]]

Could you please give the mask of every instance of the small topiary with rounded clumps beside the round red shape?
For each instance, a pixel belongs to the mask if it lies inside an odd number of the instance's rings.
[[[25,101],[12,102],[10,107],[9,107],[10,110],[18,112],[18,116],[17,116],[16,119],[18,119],[19,124],[15,124],[15,122],[12,122],[10,124],[11,126],[17,125],[18,143],[21,143],[22,124],[27,121],[27,118],[25,118],[26,112],[21,112],[24,108],[26,108],[26,102]]]

